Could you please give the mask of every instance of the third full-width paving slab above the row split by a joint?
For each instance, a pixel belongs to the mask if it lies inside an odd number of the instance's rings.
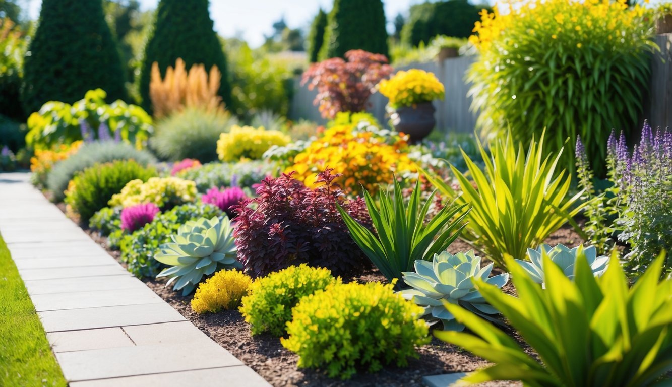
[[[26,289],[28,289],[28,294],[30,294],[31,297],[38,294],[120,290],[144,286],[144,284],[140,282],[140,279],[133,277],[128,271],[118,275],[78,277],[77,279],[56,278],[34,279],[32,281],[24,280],[24,284],[26,284]]]

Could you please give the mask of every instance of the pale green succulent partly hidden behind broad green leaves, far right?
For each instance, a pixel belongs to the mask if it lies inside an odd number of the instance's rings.
[[[528,258],[530,258],[530,261],[522,261],[521,259],[516,259],[515,261],[525,269],[534,282],[542,284],[542,287],[546,288],[546,284],[544,284],[544,259],[542,259],[542,256],[544,254],[548,255],[550,260],[560,267],[564,275],[569,277],[569,279],[574,279],[575,263],[577,262],[577,255],[580,255],[581,251],[585,254],[593,275],[595,277],[601,276],[607,269],[609,257],[605,255],[597,257],[597,250],[594,246],[583,247],[583,245],[579,245],[579,247],[570,249],[564,245],[557,245],[553,248],[549,245],[540,245],[536,250],[528,249]]]

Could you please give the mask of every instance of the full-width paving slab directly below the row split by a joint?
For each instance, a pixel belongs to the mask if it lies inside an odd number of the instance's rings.
[[[69,382],[242,365],[222,347],[137,345],[56,353]],[[222,380],[220,380],[220,383]]]

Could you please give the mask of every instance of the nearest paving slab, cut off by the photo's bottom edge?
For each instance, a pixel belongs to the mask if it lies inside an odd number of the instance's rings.
[[[169,374],[131,376],[128,378],[89,380],[87,382],[73,382],[70,384],[70,387],[119,386],[267,387],[270,386],[270,384],[245,365],[226,368],[210,368],[209,370],[171,372]]]

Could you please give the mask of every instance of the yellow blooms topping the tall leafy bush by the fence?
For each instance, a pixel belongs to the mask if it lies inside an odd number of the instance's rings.
[[[469,41],[480,52],[505,50],[507,37],[548,36],[575,42],[577,48],[590,42],[615,40],[628,43],[632,28],[638,28],[644,8],[628,7],[626,0],[504,0],[489,13],[483,9]]]

